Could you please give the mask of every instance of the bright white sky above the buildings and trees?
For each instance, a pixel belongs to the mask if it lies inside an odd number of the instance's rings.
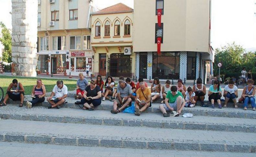
[[[134,8],[133,0],[94,0],[98,9],[117,3]],[[256,50],[255,3],[256,0],[212,0],[211,45],[214,49],[235,41],[245,49]],[[0,0],[0,21],[10,29],[11,9],[11,0]]]

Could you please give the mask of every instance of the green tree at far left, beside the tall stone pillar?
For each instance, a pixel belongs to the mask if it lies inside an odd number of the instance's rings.
[[[2,60],[4,62],[12,62],[12,37],[10,30],[6,28],[5,24],[3,22],[0,22],[0,27],[2,28],[2,36],[0,38],[0,41],[5,47],[5,51],[3,52],[3,58]]]

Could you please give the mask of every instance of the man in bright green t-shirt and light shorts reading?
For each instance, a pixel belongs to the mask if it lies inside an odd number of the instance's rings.
[[[171,86],[171,90],[167,92],[165,103],[160,104],[159,108],[163,113],[164,117],[170,117],[170,114],[166,111],[177,111],[177,115],[179,116],[183,107],[185,106],[185,100],[180,91],[177,91],[177,86]]]

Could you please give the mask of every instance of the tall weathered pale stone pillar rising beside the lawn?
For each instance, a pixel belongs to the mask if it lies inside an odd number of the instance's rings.
[[[12,0],[12,75],[36,76],[37,0]]]

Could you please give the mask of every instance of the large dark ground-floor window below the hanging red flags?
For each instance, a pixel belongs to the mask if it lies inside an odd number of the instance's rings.
[[[179,79],[180,77],[180,52],[153,53],[153,78]]]

